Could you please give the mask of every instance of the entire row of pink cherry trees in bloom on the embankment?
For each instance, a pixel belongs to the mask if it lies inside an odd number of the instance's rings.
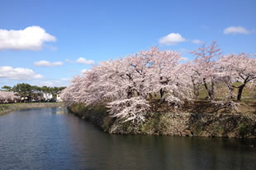
[[[244,86],[256,79],[256,60],[249,54],[222,55],[216,42],[202,44],[192,51],[196,59],[184,62],[175,51],[150,48],[125,58],[100,62],[61,94],[65,102],[106,104],[112,117],[141,122],[150,112],[151,101],[168,103],[174,108],[192,102],[203,85],[208,98],[216,97],[216,84],[226,87],[226,99],[234,98],[234,82],[239,81],[238,100]],[[250,83],[250,85],[252,84]]]

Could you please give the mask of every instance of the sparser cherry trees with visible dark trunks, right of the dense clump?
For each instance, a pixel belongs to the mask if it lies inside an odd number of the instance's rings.
[[[216,41],[209,46],[201,44],[192,51],[196,59],[190,62],[192,66],[192,84],[194,94],[198,96],[198,86],[204,85],[209,99],[216,98],[216,84],[223,83],[227,93],[226,99],[234,99],[234,90],[238,89],[237,100],[241,100],[245,85],[255,85],[256,58],[248,53],[222,55]],[[238,82],[238,86],[234,85]]]

